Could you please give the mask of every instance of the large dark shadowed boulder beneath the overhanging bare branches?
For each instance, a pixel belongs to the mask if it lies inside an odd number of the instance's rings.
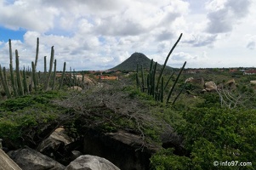
[[[114,133],[88,130],[84,137],[82,152],[104,157],[124,170],[147,170],[150,169],[151,155],[156,150],[159,148],[146,144],[139,134],[122,130]]]

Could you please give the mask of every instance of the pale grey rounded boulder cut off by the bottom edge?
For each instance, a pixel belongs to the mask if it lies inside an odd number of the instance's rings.
[[[120,170],[111,161],[99,156],[79,156],[65,168],[65,170]]]

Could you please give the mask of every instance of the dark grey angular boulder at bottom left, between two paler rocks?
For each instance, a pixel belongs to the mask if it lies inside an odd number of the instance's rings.
[[[9,151],[8,155],[22,169],[26,170],[63,170],[65,167],[48,156],[31,148]]]

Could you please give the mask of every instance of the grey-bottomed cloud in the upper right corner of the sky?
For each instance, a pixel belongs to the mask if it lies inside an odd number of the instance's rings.
[[[247,16],[251,0],[212,0],[207,4],[209,33],[232,31],[239,20]]]

